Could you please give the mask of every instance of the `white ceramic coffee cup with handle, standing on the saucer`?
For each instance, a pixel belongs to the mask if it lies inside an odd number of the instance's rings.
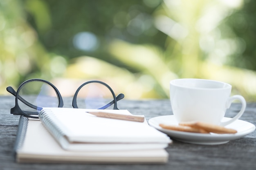
[[[226,126],[239,119],[246,108],[243,96],[230,97],[232,86],[207,79],[174,79],[170,82],[170,100],[173,115],[178,122],[203,121]],[[240,112],[222,122],[227,108],[234,100],[242,103]]]

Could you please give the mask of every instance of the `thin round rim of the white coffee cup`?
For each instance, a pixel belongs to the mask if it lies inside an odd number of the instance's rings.
[[[190,87],[190,86],[184,86],[180,84],[175,84],[177,81],[182,81],[182,80],[195,80],[195,81],[204,81],[204,82],[216,82],[219,84],[223,84],[223,87],[220,88],[203,88],[203,87]],[[221,89],[229,89],[232,86],[228,83],[225,82],[220,82],[216,80],[211,80],[211,79],[196,79],[196,78],[181,78],[181,79],[173,79],[170,81],[170,85],[176,86],[176,87],[181,87],[181,88],[189,88],[189,89],[204,89],[204,90],[221,90]]]

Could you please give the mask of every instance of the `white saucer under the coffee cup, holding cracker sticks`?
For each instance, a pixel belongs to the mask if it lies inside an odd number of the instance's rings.
[[[227,121],[229,119],[231,118],[224,117],[223,121]],[[203,145],[225,144],[230,140],[244,137],[255,130],[254,124],[251,124],[243,120],[236,120],[233,123],[225,126],[227,128],[232,128],[237,130],[236,134],[213,134],[213,133],[202,134],[202,133],[181,132],[176,130],[167,130],[167,129],[161,128],[159,126],[160,123],[177,125],[178,123],[175,120],[174,115],[159,116],[159,117],[151,118],[149,119],[148,124],[156,128],[157,130],[166,133],[171,138],[176,139],[178,141],[183,141],[191,144],[203,144]]]

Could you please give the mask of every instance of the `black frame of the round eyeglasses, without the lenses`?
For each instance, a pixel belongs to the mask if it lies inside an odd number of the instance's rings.
[[[38,117],[32,116],[32,115],[38,115],[38,112],[21,110],[20,106],[18,105],[18,100],[20,100],[22,103],[24,103],[27,106],[29,106],[31,108],[34,108],[36,110],[42,110],[43,109],[43,108],[40,108],[38,106],[34,106],[33,104],[30,104],[25,99],[23,99],[20,95],[17,95],[17,94],[19,94],[21,88],[26,83],[29,83],[29,82],[43,82],[43,83],[46,83],[49,86],[51,86],[54,89],[54,91],[55,91],[55,93],[56,93],[56,95],[58,97],[58,102],[59,102],[58,103],[58,107],[63,107],[64,104],[63,104],[63,99],[61,97],[61,93],[58,91],[58,89],[52,83],[50,83],[50,82],[48,82],[47,80],[44,80],[44,79],[29,79],[29,80],[23,82],[22,84],[20,84],[20,86],[18,87],[17,91],[15,91],[11,86],[8,86],[6,88],[6,90],[9,93],[11,93],[12,95],[15,96],[15,106],[13,108],[11,108],[11,110],[10,110],[11,114],[13,114],[13,115],[23,115],[23,116],[26,116],[26,117],[31,117],[31,118],[38,119]],[[97,109],[106,109],[109,106],[111,106],[112,104],[114,104],[113,110],[119,110],[117,108],[117,101],[123,99],[124,98],[124,94],[120,93],[119,95],[116,96],[114,91],[112,90],[112,88],[108,84],[106,84],[104,82],[101,82],[101,81],[97,81],[97,80],[88,81],[88,82],[83,83],[81,86],[79,86],[79,88],[76,90],[76,92],[74,94],[74,97],[73,97],[73,100],[72,100],[73,108],[78,108],[77,103],[76,103],[77,95],[78,95],[79,91],[81,90],[81,88],[83,86],[85,86],[86,84],[89,84],[89,83],[99,83],[99,84],[102,84],[102,85],[106,86],[110,90],[110,92],[111,92],[111,94],[113,96],[113,100],[111,102],[109,102],[108,104],[102,106],[101,108],[97,108]]]

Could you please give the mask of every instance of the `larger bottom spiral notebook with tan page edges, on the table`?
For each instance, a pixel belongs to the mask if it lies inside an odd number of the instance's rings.
[[[28,119],[24,116],[20,116],[14,150],[16,161],[20,163],[165,163],[168,161],[168,153],[164,148],[66,150],[40,120]]]

